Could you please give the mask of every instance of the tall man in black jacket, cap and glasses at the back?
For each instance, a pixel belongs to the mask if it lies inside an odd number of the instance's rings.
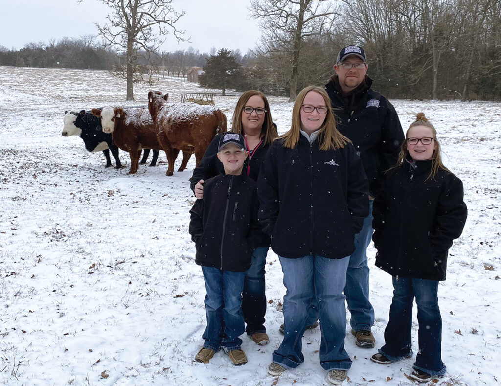
[[[395,165],[404,134],[393,105],[371,89],[367,76],[367,57],[363,48],[343,48],[336,59],[334,71],[325,86],[331,99],[338,130],[357,149],[369,180],[370,211],[382,174]],[[372,348],[371,332],[374,308],[369,301],[369,267],[367,247],[371,241],[372,214],[364,220],[355,236],[356,250],[350,256],[344,293],[351,313],[350,324],[359,347]]]

